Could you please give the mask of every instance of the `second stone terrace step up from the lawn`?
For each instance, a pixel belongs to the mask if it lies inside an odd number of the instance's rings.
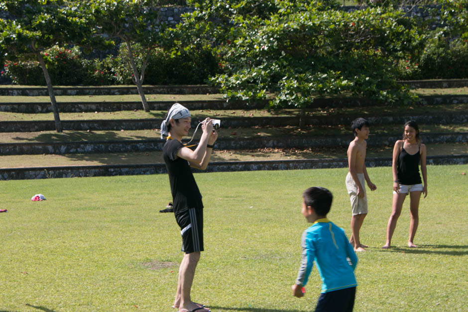
[[[285,136],[256,138],[219,138],[217,149],[244,150],[257,148],[309,148],[323,146],[346,147],[353,139],[352,135],[337,136]],[[401,133],[380,135],[370,134],[368,146],[392,146],[401,139]],[[421,134],[424,143],[465,143],[468,132],[458,133],[425,133]],[[77,142],[31,142],[0,143],[0,155],[38,155],[38,154],[83,154],[83,153],[117,153],[161,151],[165,139],[146,140],[109,140]]]

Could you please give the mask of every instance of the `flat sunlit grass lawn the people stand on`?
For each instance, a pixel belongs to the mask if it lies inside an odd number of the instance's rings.
[[[415,243],[406,247],[408,203],[393,245],[380,247],[391,209],[391,169],[368,168],[377,190],[359,253],[354,311],[466,311],[467,165],[428,166]],[[320,279],[313,269],[306,296],[291,296],[306,223],[301,193],[332,191],[329,218],[350,235],[347,169],[196,174],[204,196],[205,252],[192,297],[212,311],[306,312]],[[47,200],[31,202],[41,193]],[[0,311],[171,310],[180,234],[167,175],[0,181]]]

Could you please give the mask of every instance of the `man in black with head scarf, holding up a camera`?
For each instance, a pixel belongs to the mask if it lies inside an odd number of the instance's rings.
[[[182,144],[182,137],[188,135],[190,127],[190,111],[178,103],[172,105],[161,123],[161,137],[167,136],[163,157],[169,173],[174,215],[182,235],[182,251],[185,252],[173,308],[178,308],[179,312],[209,312],[190,299],[195,268],[200,252],[204,250],[202,195],[190,167],[207,168],[218,133],[213,129],[212,119],[206,118],[202,122],[200,142],[192,150]]]

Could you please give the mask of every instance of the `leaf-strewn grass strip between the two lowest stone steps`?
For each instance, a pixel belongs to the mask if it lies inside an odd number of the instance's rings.
[[[468,154],[467,143],[427,144],[428,155]],[[368,147],[367,157],[391,157],[392,146]],[[322,148],[261,148],[254,150],[213,151],[212,161],[249,161],[279,159],[346,158],[344,147]],[[0,156],[0,168],[93,166],[117,164],[162,163],[162,152],[106,153],[106,154],[48,154]]]

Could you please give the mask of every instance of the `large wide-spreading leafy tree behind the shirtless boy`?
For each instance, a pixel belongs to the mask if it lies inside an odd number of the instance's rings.
[[[392,57],[412,53],[422,34],[402,11],[346,12],[315,0],[193,2],[196,10],[180,29],[216,38],[224,73],[212,82],[230,99],[273,94],[270,106],[301,108],[302,117],[315,98],[345,92],[390,104],[413,100],[396,82]],[[260,2],[268,14],[255,10]]]

